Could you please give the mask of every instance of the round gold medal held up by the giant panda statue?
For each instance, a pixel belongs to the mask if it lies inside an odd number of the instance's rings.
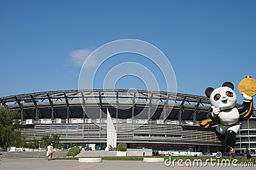
[[[255,96],[256,94],[256,80],[251,78],[248,74],[246,78],[240,81],[238,85],[238,90],[240,93],[244,92],[248,96]]]

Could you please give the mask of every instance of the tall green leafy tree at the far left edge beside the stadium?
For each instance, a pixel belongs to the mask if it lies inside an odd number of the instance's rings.
[[[0,146],[22,146],[19,118],[19,112],[0,108]]]

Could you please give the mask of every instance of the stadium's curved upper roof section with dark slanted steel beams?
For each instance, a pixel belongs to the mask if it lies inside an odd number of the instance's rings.
[[[146,90],[58,90],[0,98],[1,107],[17,110],[21,119],[141,118],[190,120],[207,118],[207,97]]]

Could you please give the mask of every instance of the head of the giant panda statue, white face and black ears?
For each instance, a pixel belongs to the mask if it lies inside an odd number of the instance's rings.
[[[234,92],[234,85],[230,82],[223,83],[222,87],[205,89],[205,95],[209,97],[211,105],[220,110],[228,110],[236,106],[237,97]]]

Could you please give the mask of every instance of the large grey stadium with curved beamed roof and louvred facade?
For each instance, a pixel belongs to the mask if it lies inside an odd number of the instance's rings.
[[[108,114],[116,142],[128,148],[211,153],[224,148],[212,129],[200,127],[209,99],[144,90],[58,90],[0,98],[0,107],[20,112],[22,134],[41,139],[60,135],[65,146],[107,145]],[[256,149],[255,113],[241,123],[236,150]],[[249,130],[250,129],[250,130]]]

